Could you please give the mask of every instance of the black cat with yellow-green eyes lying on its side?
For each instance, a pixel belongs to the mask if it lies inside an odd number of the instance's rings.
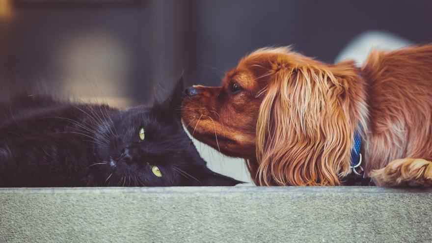
[[[126,111],[35,95],[0,104],[0,187],[234,186],[206,166],[180,120],[183,82]]]

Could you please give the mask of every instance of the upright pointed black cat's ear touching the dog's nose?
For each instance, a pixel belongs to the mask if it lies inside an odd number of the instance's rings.
[[[166,98],[162,103],[156,102],[155,108],[159,108],[162,111],[180,116],[180,108],[182,106],[183,96],[184,83],[183,77],[181,77],[180,80],[177,81],[168,98]]]

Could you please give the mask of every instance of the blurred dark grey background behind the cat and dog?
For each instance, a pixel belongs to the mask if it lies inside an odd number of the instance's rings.
[[[372,47],[432,42],[431,10],[432,0],[0,0],[0,84],[128,107],[183,71],[188,85],[218,85],[260,47],[360,65]],[[250,182],[242,160],[195,144],[212,169]]]

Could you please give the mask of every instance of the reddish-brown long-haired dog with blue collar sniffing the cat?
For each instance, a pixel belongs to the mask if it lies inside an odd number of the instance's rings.
[[[374,51],[361,69],[264,48],[186,93],[190,133],[246,159],[257,185],[340,185],[355,131],[378,185],[432,185],[432,45]]]

